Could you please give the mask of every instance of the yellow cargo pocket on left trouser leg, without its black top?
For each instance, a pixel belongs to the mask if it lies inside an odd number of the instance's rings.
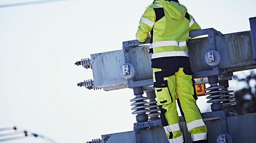
[[[155,94],[158,105],[164,105],[173,102],[172,95],[168,86],[163,88],[155,88]]]

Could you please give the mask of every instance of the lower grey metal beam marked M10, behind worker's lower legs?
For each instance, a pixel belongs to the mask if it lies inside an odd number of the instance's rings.
[[[232,137],[232,143],[254,143],[256,140],[256,113],[227,117],[229,134]],[[219,118],[207,119],[205,124],[209,133],[209,142],[216,143],[216,139],[222,133]],[[186,143],[191,142],[191,134],[187,131],[186,124],[180,122],[181,130],[184,132]],[[168,143],[163,127],[153,127],[141,129],[142,143]],[[106,135],[102,135],[102,140]],[[104,137],[104,138],[103,138]],[[135,143],[134,131],[112,134],[106,143]]]

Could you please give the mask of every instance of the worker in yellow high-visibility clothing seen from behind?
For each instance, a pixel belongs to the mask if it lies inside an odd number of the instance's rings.
[[[208,134],[196,105],[187,41],[189,31],[199,30],[193,16],[178,0],[154,0],[142,15],[136,38],[150,39],[149,54],[160,118],[170,143],[183,143],[176,100],[179,100],[193,143],[207,143]],[[150,32],[150,34],[149,34]]]

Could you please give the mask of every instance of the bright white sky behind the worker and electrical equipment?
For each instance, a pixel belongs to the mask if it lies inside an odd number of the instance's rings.
[[[0,5],[29,1],[1,0]],[[83,143],[132,130],[133,91],[77,87],[93,76],[91,69],[74,62],[119,50],[123,41],[134,40],[140,17],[152,1],[68,0],[0,8],[0,127],[14,124],[59,143]],[[256,16],[254,0],[180,2],[202,29],[213,27],[223,34],[250,30],[249,18]],[[203,112],[209,109],[205,102],[205,97],[198,100]]]

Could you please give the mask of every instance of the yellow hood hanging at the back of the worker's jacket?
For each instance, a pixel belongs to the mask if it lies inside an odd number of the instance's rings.
[[[159,3],[163,6],[164,10],[176,20],[181,20],[185,17],[187,8],[177,2],[167,0],[155,0],[155,3]]]

